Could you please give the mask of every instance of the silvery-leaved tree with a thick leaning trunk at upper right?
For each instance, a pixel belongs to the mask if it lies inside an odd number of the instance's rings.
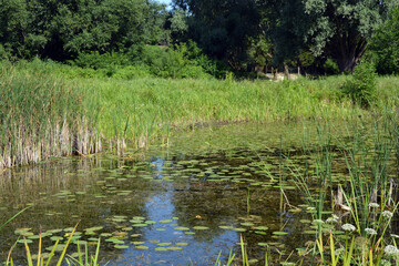
[[[314,55],[328,55],[340,71],[351,72],[386,9],[377,0],[280,1],[274,27],[276,51],[282,58],[294,57],[308,45]]]

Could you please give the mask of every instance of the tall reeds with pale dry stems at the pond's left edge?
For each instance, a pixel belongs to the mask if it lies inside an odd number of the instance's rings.
[[[92,113],[71,82],[0,65],[0,172],[47,157],[101,151]]]

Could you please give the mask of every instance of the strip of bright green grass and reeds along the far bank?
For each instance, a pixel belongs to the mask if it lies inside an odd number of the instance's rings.
[[[93,72],[84,78],[75,74],[82,69],[40,61],[1,69],[2,166],[98,151],[95,130],[120,150],[125,141],[144,147],[162,137],[167,144],[176,129],[203,123],[349,120],[398,105],[397,78],[379,78],[376,101],[364,110],[341,90],[348,76],[129,80]]]

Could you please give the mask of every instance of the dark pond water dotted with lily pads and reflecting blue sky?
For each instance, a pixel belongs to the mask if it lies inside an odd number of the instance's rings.
[[[231,250],[239,258],[241,237],[254,265],[263,263],[266,244],[275,259],[297,254],[313,239],[304,234],[311,216],[282,165],[289,157],[311,176],[315,158],[304,143],[323,143],[315,132],[304,124],[206,127],[176,134],[170,149],[55,158],[8,171],[0,180],[0,224],[31,207],[1,229],[1,259],[18,228],[30,228],[37,253],[40,231],[48,233],[45,249],[54,236],[66,242],[78,223],[75,236],[90,252],[100,237],[100,258],[109,265],[213,265],[219,253],[222,262]],[[339,180],[346,173],[337,162]],[[74,252],[72,244],[69,254]],[[24,254],[17,244],[14,260],[23,265]]]

